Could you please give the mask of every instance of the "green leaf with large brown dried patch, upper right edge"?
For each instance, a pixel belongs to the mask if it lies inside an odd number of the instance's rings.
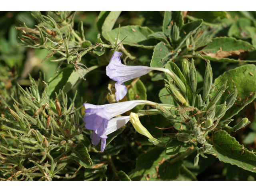
[[[246,41],[232,37],[213,38],[201,53],[204,58],[218,62],[256,62],[255,48]]]

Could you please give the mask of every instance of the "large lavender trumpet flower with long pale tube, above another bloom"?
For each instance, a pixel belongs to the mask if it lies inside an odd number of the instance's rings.
[[[106,105],[93,105],[84,103],[86,114],[84,114],[83,121],[86,122],[85,127],[93,130],[99,137],[104,138],[104,134],[108,127],[108,121],[124,112],[131,110],[137,105],[156,105],[154,102],[146,100],[126,101],[120,103],[106,104]]]

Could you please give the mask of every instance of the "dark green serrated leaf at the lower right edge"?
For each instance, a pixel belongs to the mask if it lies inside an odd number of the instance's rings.
[[[246,148],[242,154],[242,145],[234,137],[222,131],[215,131],[213,134],[213,143],[218,152],[217,158],[220,161],[256,173],[256,155],[246,151]],[[214,149],[212,150],[216,154],[216,151]]]

